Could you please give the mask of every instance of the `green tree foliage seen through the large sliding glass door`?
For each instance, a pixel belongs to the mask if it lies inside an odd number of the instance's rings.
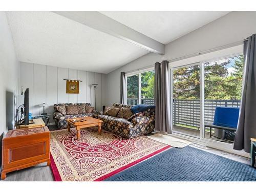
[[[231,65],[231,61],[234,63]],[[204,63],[205,99],[241,99],[243,56]],[[228,73],[228,68],[234,71]],[[173,71],[173,94],[177,99],[200,99],[200,68],[183,67]]]

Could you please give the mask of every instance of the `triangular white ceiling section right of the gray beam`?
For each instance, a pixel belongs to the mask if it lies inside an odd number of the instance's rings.
[[[229,13],[229,11],[100,12],[165,45]]]

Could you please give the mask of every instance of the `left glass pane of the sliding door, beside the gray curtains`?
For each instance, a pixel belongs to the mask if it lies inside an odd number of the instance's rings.
[[[172,70],[173,132],[200,136],[200,65]]]

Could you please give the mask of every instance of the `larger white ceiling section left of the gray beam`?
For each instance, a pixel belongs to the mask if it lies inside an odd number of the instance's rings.
[[[7,12],[7,18],[23,62],[109,73],[149,53],[52,12]]]

